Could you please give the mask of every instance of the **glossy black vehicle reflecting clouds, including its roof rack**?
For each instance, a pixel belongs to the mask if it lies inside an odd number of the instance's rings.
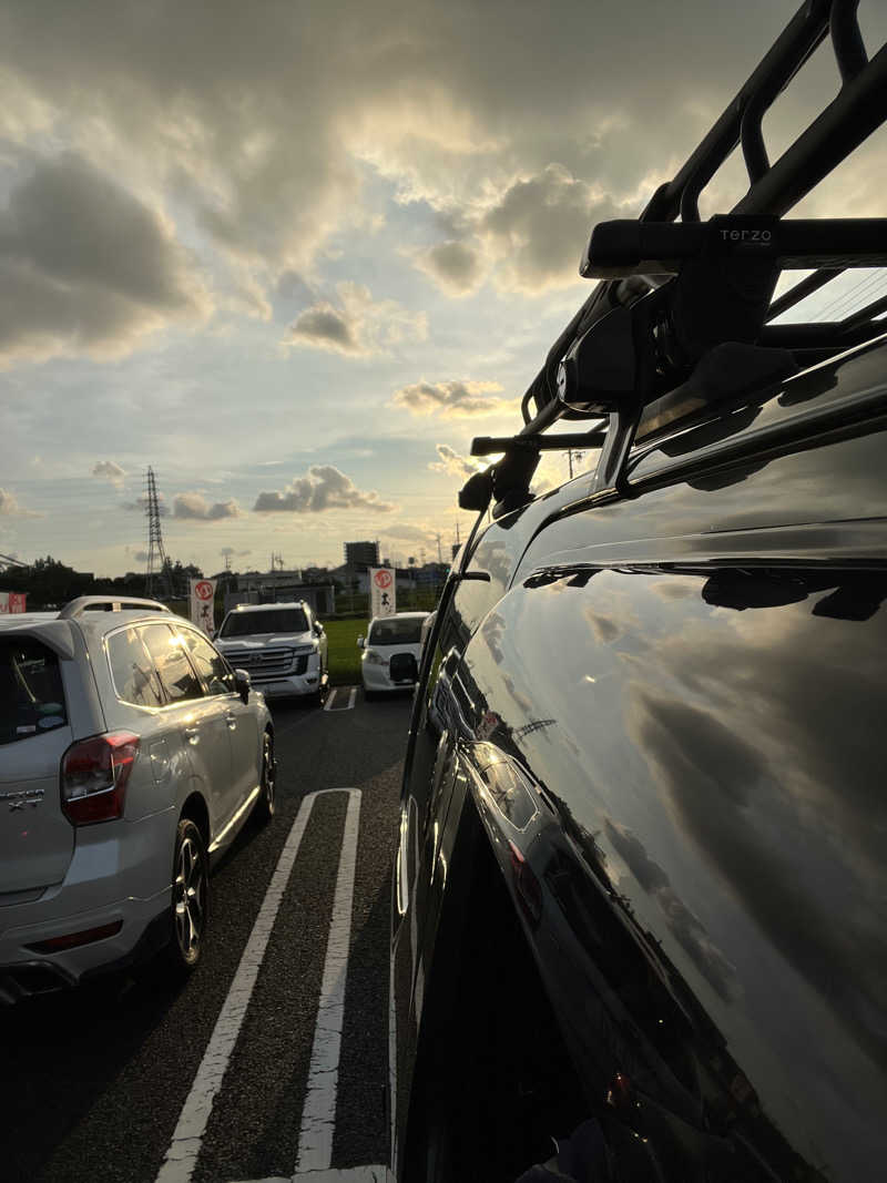
[[[887,220],[783,220],[887,116],[855,8],[803,5],[595,228],[523,431],[475,440],[394,868],[407,1183],[887,1178],[887,299],[785,316],[887,264]],[[840,93],[771,163],[824,39]],[[533,497],[568,447],[593,468]]]

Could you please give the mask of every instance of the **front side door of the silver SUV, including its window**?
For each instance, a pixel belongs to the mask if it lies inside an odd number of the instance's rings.
[[[200,674],[208,697],[224,710],[231,751],[232,813],[261,778],[261,746],[254,699],[244,702],[234,690],[234,673],[225,658],[195,628],[180,627],[184,648]]]

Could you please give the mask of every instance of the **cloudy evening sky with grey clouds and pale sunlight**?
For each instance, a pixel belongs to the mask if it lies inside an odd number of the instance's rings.
[[[794,0],[0,0],[0,551],[406,560]],[[862,0],[869,52],[887,5]],[[827,56],[768,116],[784,146]],[[883,213],[873,137],[810,206]],[[706,212],[742,195],[726,169]],[[546,478],[564,461],[546,461]]]

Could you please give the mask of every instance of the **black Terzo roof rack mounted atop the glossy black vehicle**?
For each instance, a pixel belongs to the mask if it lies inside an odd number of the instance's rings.
[[[600,446],[601,424],[609,425],[595,490],[619,487],[645,406],[687,383],[699,387],[706,375],[708,397],[726,395],[717,389],[719,368],[703,364],[726,343],[738,347],[731,360],[739,376],[745,367],[750,380],[762,373],[778,380],[887,330],[878,319],[887,297],[840,321],[771,323],[848,267],[887,265],[887,219],[783,220],[887,119],[887,46],[868,58],[857,7],[859,0],[807,0],[640,219],[594,228],[580,273],[601,282],[524,394],[523,429],[501,460],[462,489],[464,509],[485,510],[494,498],[500,516],[525,504],[535,445],[558,420],[597,420],[589,446],[593,438]],[[771,163],[764,115],[827,38],[841,89]],[[703,222],[699,195],[737,146],[747,192],[729,214]],[[781,272],[792,267],[815,270],[773,300]],[[731,388],[736,379],[734,370]]]

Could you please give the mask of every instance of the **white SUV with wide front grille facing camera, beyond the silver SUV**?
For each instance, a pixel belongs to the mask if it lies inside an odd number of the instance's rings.
[[[238,605],[222,621],[215,645],[248,672],[265,698],[321,702],[328,680],[326,634],[304,600]]]

